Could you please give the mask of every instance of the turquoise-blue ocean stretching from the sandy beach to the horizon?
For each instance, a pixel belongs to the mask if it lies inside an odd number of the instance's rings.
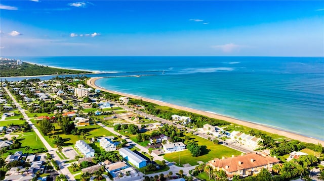
[[[324,140],[324,57],[13,58],[101,72],[89,77],[154,75],[103,78],[96,84]]]

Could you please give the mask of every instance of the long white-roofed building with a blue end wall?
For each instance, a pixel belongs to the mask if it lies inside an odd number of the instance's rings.
[[[138,168],[146,166],[146,160],[128,148],[120,148],[119,155],[123,156],[123,158]]]

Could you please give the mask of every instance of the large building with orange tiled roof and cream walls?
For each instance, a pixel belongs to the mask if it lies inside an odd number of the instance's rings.
[[[280,160],[273,157],[263,157],[257,153],[250,153],[247,155],[235,156],[230,158],[216,158],[207,163],[214,170],[224,170],[229,178],[233,175],[246,177],[257,174],[262,168],[271,171],[272,166],[278,164]]]

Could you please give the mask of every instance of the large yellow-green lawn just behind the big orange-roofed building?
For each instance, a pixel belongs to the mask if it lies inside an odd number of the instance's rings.
[[[188,134],[189,135],[189,134]],[[164,154],[164,158],[170,162],[176,162],[179,165],[179,155],[181,160],[181,165],[189,163],[190,165],[198,165],[197,161],[208,162],[213,158],[230,157],[231,155],[239,155],[241,152],[234,149],[228,148],[223,145],[214,145],[211,141],[197,136],[190,136],[202,147],[202,152],[200,156],[191,156],[188,150],[181,152],[167,153]]]

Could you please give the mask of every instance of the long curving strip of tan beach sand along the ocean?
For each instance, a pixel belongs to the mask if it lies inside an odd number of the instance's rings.
[[[95,84],[96,80],[101,79],[101,78],[103,78],[103,77],[91,78],[91,79],[89,79],[87,81],[87,84],[89,86],[93,87],[93,88],[100,89],[102,91],[110,92],[110,93],[113,93],[113,94],[119,94],[121,96],[127,96],[127,97],[131,97],[131,98],[135,98],[135,99],[142,99],[143,101],[152,102],[152,103],[155,103],[155,104],[158,104],[158,105],[168,106],[168,107],[172,107],[172,108],[176,108],[176,109],[180,109],[180,110],[185,110],[185,111],[188,111],[188,112],[193,112],[193,113],[205,115],[205,116],[216,118],[216,119],[226,120],[227,122],[230,122],[230,123],[246,126],[246,127],[257,129],[257,130],[263,130],[263,131],[266,131],[268,133],[274,133],[274,134],[282,135],[282,136],[285,136],[287,138],[291,138],[291,139],[294,139],[294,140],[299,140],[301,142],[313,143],[313,144],[320,143],[321,145],[324,145],[324,141],[317,140],[315,138],[306,137],[306,136],[303,136],[303,135],[298,135],[298,134],[291,133],[291,132],[287,132],[287,131],[284,131],[284,130],[279,130],[279,129],[267,127],[267,126],[264,126],[264,125],[259,125],[259,124],[255,124],[255,123],[251,123],[251,122],[246,122],[244,120],[239,120],[239,119],[235,119],[235,118],[232,118],[232,117],[227,117],[227,116],[224,116],[224,115],[214,114],[214,113],[211,113],[211,112],[192,109],[192,108],[189,108],[189,107],[178,106],[178,105],[174,105],[174,104],[170,104],[170,103],[167,103],[167,102],[162,102],[162,101],[158,101],[158,100],[154,100],[154,99],[149,99],[149,98],[140,97],[140,96],[136,96],[136,95],[131,95],[131,94],[126,94],[126,93],[121,93],[121,92],[116,92],[116,91],[103,89],[101,87],[98,87]]]

